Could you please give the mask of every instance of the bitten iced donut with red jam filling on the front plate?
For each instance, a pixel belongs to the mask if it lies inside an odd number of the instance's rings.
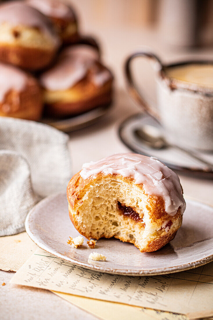
[[[67,199],[70,219],[83,236],[114,236],[141,252],[172,240],[185,211],[177,174],[156,158],[134,153],[84,164],[68,183]]]

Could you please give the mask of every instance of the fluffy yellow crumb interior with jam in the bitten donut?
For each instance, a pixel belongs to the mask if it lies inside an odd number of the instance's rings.
[[[74,211],[69,206],[69,211],[81,234],[95,239],[114,236],[135,244],[141,252],[153,251],[147,249],[150,242],[173,233],[181,224],[180,220],[174,221],[169,232],[165,232],[161,223],[154,222],[149,215],[148,196],[137,185],[110,177],[93,180],[77,199],[78,209]]]

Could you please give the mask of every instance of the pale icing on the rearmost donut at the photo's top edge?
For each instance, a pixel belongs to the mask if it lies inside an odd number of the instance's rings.
[[[58,0],[27,0],[26,3],[48,17],[75,20],[72,8]]]

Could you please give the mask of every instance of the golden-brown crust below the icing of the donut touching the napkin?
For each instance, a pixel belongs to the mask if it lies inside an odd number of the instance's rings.
[[[0,102],[0,116],[38,121],[42,116],[42,91],[37,81],[29,77],[25,88],[10,90]]]

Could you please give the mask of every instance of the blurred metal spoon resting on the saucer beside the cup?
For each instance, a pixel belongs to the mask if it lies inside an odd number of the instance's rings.
[[[150,130],[150,127],[152,127],[152,130]],[[195,160],[200,161],[202,164],[210,166],[211,169],[213,169],[213,164],[200,158],[195,152],[178,147],[176,145],[169,144],[163,137],[160,132],[160,130],[154,126],[146,125],[144,128],[136,129],[135,135],[140,139],[143,140],[143,142],[149,147],[153,149],[163,149],[168,147],[174,147],[176,149],[179,149],[183,152],[185,152],[187,155],[191,156]]]

